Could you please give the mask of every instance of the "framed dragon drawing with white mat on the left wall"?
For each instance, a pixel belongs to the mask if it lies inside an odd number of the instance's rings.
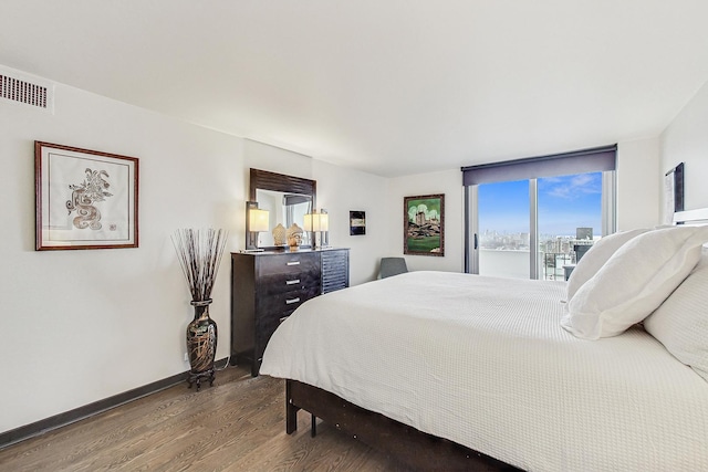
[[[38,251],[138,247],[138,159],[34,141]]]

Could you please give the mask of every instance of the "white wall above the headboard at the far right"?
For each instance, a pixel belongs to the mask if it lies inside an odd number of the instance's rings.
[[[678,116],[664,130],[659,139],[660,175],[684,164],[685,210],[708,207],[708,83],[688,102]],[[662,217],[664,212],[662,193]]]

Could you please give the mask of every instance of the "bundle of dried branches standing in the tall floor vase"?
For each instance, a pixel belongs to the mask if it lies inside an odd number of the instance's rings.
[[[187,279],[192,302],[211,297],[211,289],[226,247],[228,231],[180,229],[173,234],[179,265]]]

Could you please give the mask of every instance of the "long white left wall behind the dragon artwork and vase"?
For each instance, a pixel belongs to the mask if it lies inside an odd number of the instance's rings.
[[[352,283],[373,277],[386,180],[56,85],[55,114],[0,102],[0,432],[184,373],[194,312],[170,235],[230,231],[210,313],[229,355],[229,251],[244,247],[249,167],[321,179],[331,243],[352,248]],[[139,158],[139,248],[34,251],[34,140]],[[348,210],[366,237],[348,237]],[[346,228],[346,229],[345,229]],[[382,238],[379,241],[377,238]]]

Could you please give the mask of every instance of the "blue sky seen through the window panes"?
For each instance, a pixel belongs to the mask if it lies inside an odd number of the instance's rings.
[[[539,233],[574,235],[575,228],[601,234],[602,172],[538,179]],[[529,232],[529,181],[479,186],[480,232]]]

